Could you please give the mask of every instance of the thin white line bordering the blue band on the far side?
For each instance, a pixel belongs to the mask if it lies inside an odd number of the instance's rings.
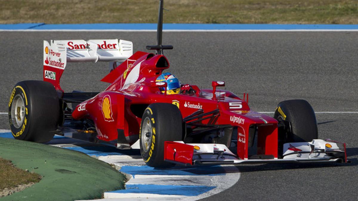
[[[114,32],[156,32],[156,29],[0,29],[0,31],[114,31]],[[182,29],[168,29],[163,30],[163,32],[287,32],[287,31],[358,31],[358,29],[220,29],[220,30],[211,30],[211,29],[192,29],[192,30],[182,30]]]

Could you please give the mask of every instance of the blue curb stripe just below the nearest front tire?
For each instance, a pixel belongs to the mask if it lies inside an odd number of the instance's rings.
[[[225,175],[225,169],[221,166],[195,166],[195,167],[173,167],[169,169],[158,169],[149,166],[122,166],[121,172],[135,177],[135,175]]]

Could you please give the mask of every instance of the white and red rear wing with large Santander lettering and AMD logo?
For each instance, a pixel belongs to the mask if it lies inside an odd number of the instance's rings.
[[[127,40],[44,40],[43,78],[57,90],[67,62],[112,62],[119,65],[133,54],[133,43]]]

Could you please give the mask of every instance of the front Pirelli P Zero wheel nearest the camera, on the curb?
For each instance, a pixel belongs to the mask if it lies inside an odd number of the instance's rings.
[[[153,103],[145,109],[139,138],[140,153],[148,166],[174,166],[164,161],[164,142],[182,140],[182,121],[182,114],[173,104]]]

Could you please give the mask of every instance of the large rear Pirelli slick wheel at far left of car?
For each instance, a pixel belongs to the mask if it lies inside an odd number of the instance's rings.
[[[59,99],[52,84],[37,80],[15,85],[9,100],[9,123],[15,139],[50,141],[57,129]]]

